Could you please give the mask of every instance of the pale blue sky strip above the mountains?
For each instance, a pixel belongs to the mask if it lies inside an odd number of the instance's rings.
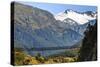
[[[63,12],[67,9],[71,9],[78,12],[85,11],[97,11],[96,6],[83,6],[83,5],[71,5],[71,4],[53,4],[53,3],[37,3],[37,2],[20,2],[26,5],[37,7],[43,10],[51,12],[53,15],[56,15],[60,12]]]

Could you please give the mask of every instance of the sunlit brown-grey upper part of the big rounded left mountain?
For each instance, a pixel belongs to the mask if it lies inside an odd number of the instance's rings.
[[[33,29],[46,27],[55,22],[53,15],[45,10],[15,3],[15,23],[19,23],[24,27],[28,25]]]

